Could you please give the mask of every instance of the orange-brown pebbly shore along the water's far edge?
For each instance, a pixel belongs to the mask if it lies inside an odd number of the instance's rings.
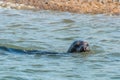
[[[120,14],[119,0],[3,0],[2,6],[10,6],[15,9],[44,9],[82,14]]]

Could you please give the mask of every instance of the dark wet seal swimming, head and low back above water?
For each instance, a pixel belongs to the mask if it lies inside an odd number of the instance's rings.
[[[49,51],[41,51],[41,50],[22,50],[15,48],[8,48],[5,46],[0,46],[0,50],[7,51],[10,53],[21,53],[21,54],[58,54],[58,52],[49,52]],[[85,41],[77,40],[74,41],[69,47],[66,53],[79,53],[79,52],[87,52],[89,51],[89,44]]]

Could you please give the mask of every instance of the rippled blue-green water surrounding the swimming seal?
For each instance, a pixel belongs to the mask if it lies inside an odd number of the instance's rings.
[[[0,51],[0,80],[120,80],[119,34],[120,16],[0,8],[2,46],[66,52],[79,39],[91,46],[68,55]]]

